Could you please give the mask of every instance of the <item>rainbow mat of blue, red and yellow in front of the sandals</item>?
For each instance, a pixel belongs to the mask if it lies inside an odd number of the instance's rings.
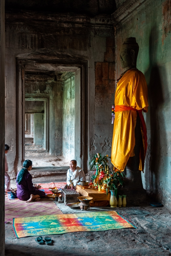
[[[13,219],[15,235],[20,237],[64,234],[78,231],[104,231],[135,228],[115,211],[44,215]]]

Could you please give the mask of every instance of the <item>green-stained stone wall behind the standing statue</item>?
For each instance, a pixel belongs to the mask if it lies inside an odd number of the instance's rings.
[[[119,50],[126,37],[139,44],[137,68],[148,84],[148,113],[144,114],[148,148],[144,188],[171,205],[171,0],[147,1],[116,30],[116,78],[122,73]]]

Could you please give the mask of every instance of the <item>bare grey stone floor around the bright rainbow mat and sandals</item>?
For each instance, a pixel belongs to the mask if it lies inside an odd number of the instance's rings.
[[[33,179],[34,182],[34,179]],[[40,182],[42,182],[40,180]],[[58,204],[63,213],[76,213],[64,204]],[[110,207],[90,211],[111,211]],[[139,207],[115,208],[137,228],[97,232],[74,232],[49,235],[52,245],[39,245],[35,237],[16,238],[12,225],[6,228],[6,256],[150,256],[171,255],[171,210],[165,206],[154,208],[149,203]]]

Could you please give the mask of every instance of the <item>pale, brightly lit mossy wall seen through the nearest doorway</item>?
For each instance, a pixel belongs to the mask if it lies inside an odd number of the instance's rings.
[[[67,74],[69,73],[69,74]],[[66,72],[63,78],[63,156],[75,158],[75,76]]]

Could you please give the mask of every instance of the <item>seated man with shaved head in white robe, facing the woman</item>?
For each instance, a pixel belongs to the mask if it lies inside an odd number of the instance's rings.
[[[80,185],[80,181],[85,180],[85,174],[83,169],[77,166],[76,160],[71,160],[70,169],[67,171],[67,185],[71,185],[71,187],[75,187],[76,185]]]

